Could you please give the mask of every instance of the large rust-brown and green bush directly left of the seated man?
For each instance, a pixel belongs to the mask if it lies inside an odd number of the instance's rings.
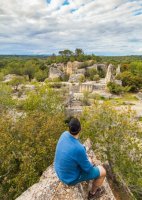
[[[64,116],[34,111],[13,124],[0,115],[0,199],[15,199],[53,162]]]

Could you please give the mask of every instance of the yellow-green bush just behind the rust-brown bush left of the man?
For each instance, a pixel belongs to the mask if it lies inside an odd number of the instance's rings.
[[[20,102],[20,107],[25,111],[43,111],[55,114],[64,110],[62,95],[48,85],[36,86],[35,91],[28,94],[27,99]]]

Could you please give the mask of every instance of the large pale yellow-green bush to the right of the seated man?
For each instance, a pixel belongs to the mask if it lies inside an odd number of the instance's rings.
[[[136,199],[142,194],[142,132],[129,109],[119,112],[111,104],[95,104],[82,114],[82,139],[91,138],[97,157],[108,160]]]

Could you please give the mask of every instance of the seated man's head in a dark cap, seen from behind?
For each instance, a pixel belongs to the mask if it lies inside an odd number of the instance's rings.
[[[77,135],[81,130],[81,124],[77,118],[72,118],[68,125],[69,125],[69,131],[72,135]]]

